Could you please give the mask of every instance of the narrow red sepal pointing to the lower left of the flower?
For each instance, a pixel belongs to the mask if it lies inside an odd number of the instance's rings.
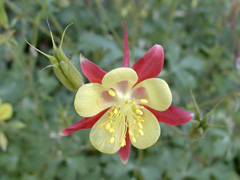
[[[108,108],[109,109],[109,108]],[[79,129],[88,129],[88,128],[92,128],[93,125],[97,122],[98,119],[100,119],[100,117],[108,110],[104,110],[100,113],[98,113],[97,115],[93,116],[93,117],[89,117],[89,118],[84,118],[78,122],[76,122],[75,124],[69,126],[68,128],[64,129],[61,133],[61,135],[63,136],[68,136],[72,133],[74,133],[75,131],[79,130]]]

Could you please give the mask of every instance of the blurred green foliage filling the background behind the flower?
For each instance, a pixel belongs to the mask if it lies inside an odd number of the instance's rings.
[[[0,97],[13,106],[3,127],[8,149],[0,152],[0,180],[144,179],[238,180],[240,178],[240,18],[239,0],[1,0]],[[202,117],[220,100],[201,138],[186,134],[192,123],[161,124],[159,141],[146,150],[132,148],[126,167],[117,154],[96,151],[89,130],[59,133],[81,117],[74,93],[63,87],[48,59],[27,39],[52,54],[48,17],[59,43],[70,23],[64,52],[79,68],[78,55],[109,71],[121,66],[123,27],[129,32],[131,64],[154,44],[165,50],[160,75],[173,92],[173,104]],[[58,38],[57,38],[58,37]],[[40,72],[41,71],[41,72]],[[85,82],[87,80],[85,79]]]

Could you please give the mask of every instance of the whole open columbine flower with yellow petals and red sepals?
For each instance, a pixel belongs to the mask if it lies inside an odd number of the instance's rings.
[[[126,24],[123,67],[108,73],[80,56],[81,68],[91,83],[77,91],[74,106],[85,117],[66,128],[67,136],[79,129],[92,128],[91,144],[103,153],[118,152],[126,164],[130,146],[145,149],[160,136],[158,122],[170,125],[185,124],[192,119],[190,113],[171,106],[172,94],[168,84],[159,78],[164,53],[154,45],[129,68],[129,49]]]

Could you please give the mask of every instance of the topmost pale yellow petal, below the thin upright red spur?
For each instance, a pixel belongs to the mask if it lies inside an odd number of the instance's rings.
[[[137,80],[137,73],[133,69],[121,67],[108,72],[102,79],[102,85],[107,88],[126,91],[131,89]]]

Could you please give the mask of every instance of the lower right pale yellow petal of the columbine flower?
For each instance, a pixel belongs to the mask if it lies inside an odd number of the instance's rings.
[[[131,130],[132,132],[135,132],[135,134],[139,134],[137,137],[135,137],[131,136],[129,133],[129,137],[133,146],[138,149],[145,149],[155,144],[161,133],[157,118],[146,108],[144,108],[142,111],[143,116],[146,117],[144,122],[141,122],[143,129],[138,128],[138,126],[129,127],[129,132]],[[131,116],[128,116],[128,118],[130,123],[133,122],[133,118]]]

